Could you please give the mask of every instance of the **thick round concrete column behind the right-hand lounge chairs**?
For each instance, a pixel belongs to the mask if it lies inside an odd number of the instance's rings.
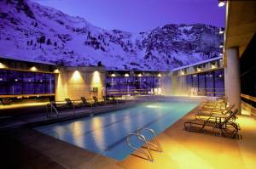
[[[227,70],[228,70],[228,100],[235,104],[241,113],[241,82],[240,82],[240,60],[238,48],[227,48]]]

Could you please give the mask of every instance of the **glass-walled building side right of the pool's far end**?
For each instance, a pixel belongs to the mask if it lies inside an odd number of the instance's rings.
[[[201,61],[172,70],[172,95],[224,95],[224,68],[222,57]]]

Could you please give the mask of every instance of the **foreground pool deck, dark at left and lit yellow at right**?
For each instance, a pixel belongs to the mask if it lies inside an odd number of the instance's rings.
[[[27,127],[0,133],[1,168],[255,168],[256,121],[239,115],[240,138],[230,139],[187,132],[183,122],[193,118],[199,106],[160,133],[163,153],[153,152],[155,162],[135,152],[115,161],[67,144]],[[3,161],[3,162],[2,162]],[[9,167],[3,167],[8,165]]]

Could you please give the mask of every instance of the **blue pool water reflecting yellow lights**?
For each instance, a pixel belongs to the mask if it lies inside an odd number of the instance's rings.
[[[195,108],[195,102],[157,102],[139,104],[136,107],[116,110],[102,115],[88,116],[72,121],[59,122],[36,127],[39,132],[61,139],[83,149],[123,160],[133,149],[127,146],[125,138],[139,127],[154,129],[156,134],[163,132],[183,115]],[[143,133],[150,138],[148,133]],[[137,147],[143,143],[131,138]]]

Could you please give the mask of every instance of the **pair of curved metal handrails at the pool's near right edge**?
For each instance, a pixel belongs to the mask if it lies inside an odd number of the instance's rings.
[[[155,142],[155,144],[149,142],[149,141],[147,140],[147,138],[142,134],[142,131],[149,131],[149,132],[153,135],[153,137],[154,137],[154,142]],[[133,145],[131,144],[131,142],[130,142],[130,138],[131,138],[132,136],[136,136],[137,139],[138,139],[138,141],[142,141],[143,144],[146,145],[146,148],[147,148],[147,151],[148,151],[148,152],[146,152],[146,151],[144,151],[144,150],[137,149],[135,146],[133,146]],[[141,154],[143,154],[143,155],[146,155],[146,156],[148,157],[148,161],[150,161],[150,162],[154,162],[154,158],[153,158],[153,155],[152,155],[151,152],[150,152],[149,145],[152,145],[154,148],[156,148],[156,150],[157,150],[158,152],[160,152],[160,153],[163,152],[163,149],[161,148],[161,145],[160,145],[158,139],[156,138],[155,132],[154,132],[154,130],[151,129],[151,128],[138,128],[138,129],[137,129],[137,133],[130,133],[130,134],[126,137],[126,144],[127,144],[129,147],[131,147],[131,149],[135,149],[135,150],[137,150],[137,152],[139,152],[139,153],[141,153]]]

